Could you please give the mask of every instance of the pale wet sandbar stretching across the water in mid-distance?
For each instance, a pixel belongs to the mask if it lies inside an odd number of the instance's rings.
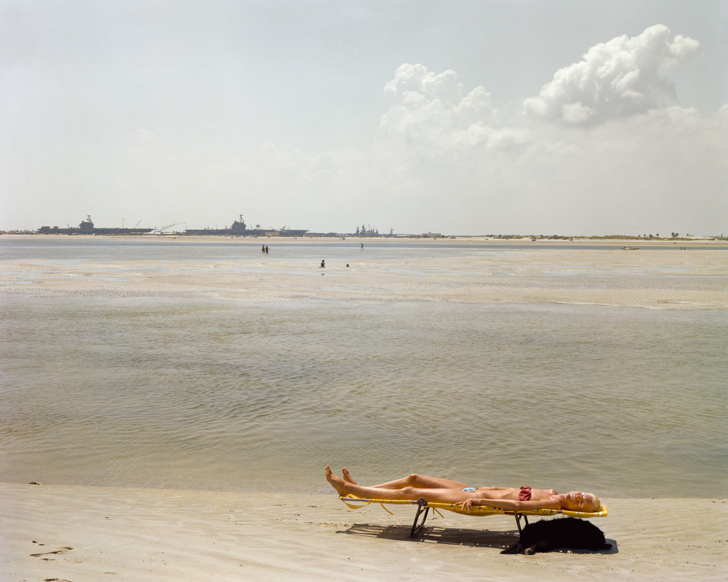
[[[237,239],[223,240],[237,244]],[[280,240],[277,244],[292,242],[296,240]],[[395,243],[406,244],[392,241]],[[458,242],[452,244],[456,247]],[[487,245],[483,242],[484,248]],[[0,294],[246,302],[314,299],[362,304],[444,301],[728,308],[726,251],[700,247],[687,251],[619,248],[614,245],[611,250],[571,250],[554,244],[545,250],[509,250],[451,259],[428,257],[429,253],[422,250],[422,258],[416,259],[357,258],[349,261],[349,268],[346,261],[327,260],[325,269],[317,268],[318,261],[277,260],[270,256],[205,263],[111,261],[80,266],[5,260],[0,262]],[[352,254],[356,256],[356,251]],[[122,268],[127,272],[119,271]]]

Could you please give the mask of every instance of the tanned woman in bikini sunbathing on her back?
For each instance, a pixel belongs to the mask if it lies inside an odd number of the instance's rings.
[[[326,480],[336,491],[345,497],[351,493],[363,499],[405,499],[433,503],[458,503],[462,509],[473,506],[491,506],[507,511],[529,511],[529,509],[566,509],[568,511],[598,511],[601,501],[593,493],[571,491],[556,493],[553,489],[533,489],[531,487],[468,487],[464,483],[411,474],[373,487],[362,487],[352,479],[346,467],[341,469],[344,479],[337,477],[326,466]]]

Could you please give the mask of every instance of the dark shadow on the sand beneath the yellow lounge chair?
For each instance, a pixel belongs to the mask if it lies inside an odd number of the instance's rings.
[[[365,538],[381,538],[386,540],[427,541],[430,543],[448,543],[454,546],[474,546],[505,550],[518,541],[518,530],[505,532],[492,530],[470,530],[464,527],[424,526],[414,538],[410,538],[411,525],[375,525],[355,523],[348,530],[336,533],[361,535]]]

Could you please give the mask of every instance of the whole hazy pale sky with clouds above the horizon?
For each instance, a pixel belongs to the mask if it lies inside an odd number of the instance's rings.
[[[727,234],[727,1],[0,0],[0,229]]]

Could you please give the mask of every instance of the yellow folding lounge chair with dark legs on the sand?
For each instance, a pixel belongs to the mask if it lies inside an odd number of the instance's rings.
[[[606,505],[599,506],[598,511],[592,511],[590,513],[587,511],[568,511],[566,509],[529,509],[529,511],[507,511],[506,509],[499,509],[497,507],[490,506],[473,507],[470,513],[468,513],[467,511],[463,511],[462,507],[455,503],[427,503],[427,501],[424,501],[424,498],[422,497],[417,501],[403,501],[399,499],[363,499],[356,495],[347,495],[346,497],[339,497],[339,499],[352,509],[362,509],[369,503],[379,503],[386,511],[389,511],[389,509],[384,507],[385,503],[387,503],[387,505],[416,505],[417,513],[415,514],[414,523],[412,524],[412,530],[410,532],[411,538],[414,538],[414,536],[419,533],[419,530],[422,530],[422,527],[424,527],[424,522],[427,519],[427,514],[430,512],[430,508],[432,508],[432,511],[445,509],[446,511],[453,511],[456,514],[470,515],[471,517],[484,517],[486,515],[513,515],[515,516],[515,525],[518,526],[518,533],[521,533],[521,517],[523,517],[526,521],[526,525],[529,525],[529,515],[547,516],[562,514],[569,515],[571,517],[606,517],[609,514],[609,507]],[[423,510],[424,517],[422,517],[422,523],[417,525],[419,514],[422,513]],[[392,511],[389,511],[389,513],[391,514]],[[438,514],[439,513],[440,511],[438,511]],[[440,514],[440,517],[442,517],[442,514]]]

